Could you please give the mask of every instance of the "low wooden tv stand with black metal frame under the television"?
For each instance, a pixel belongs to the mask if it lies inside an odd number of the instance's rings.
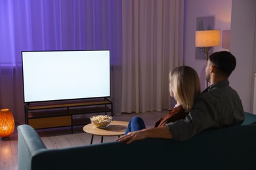
[[[26,103],[25,122],[34,129],[66,127],[89,124],[89,118],[75,118],[75,115],[108,112],[113,116],[113,104],[107,98],[86,99],[79,101],[56,101]]]

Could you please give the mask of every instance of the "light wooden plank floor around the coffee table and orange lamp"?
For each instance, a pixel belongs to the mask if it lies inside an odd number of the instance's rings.
[[[121,114],[114,116],[114,120],[127,121],[131,120],[133,116],[140,116],[146,127],[154,126],[156,120],[167,113],[163,112],[146,112],[140,114]],[[74,133],[71,133],[70,127],[59,127],[51,129],[37,130],[43,143],[47,148],[67,148],[71,146],[82,146],[90,144],[91,135],[83,132],[83,126],[74,127]],[[104,141],[114,141],[117,137],[104,137]],[[100,137],[95,136],[93,143],[100,143]],[[18,169],[18,134],[15,128],[14,133],[8,141],[0,140],[0,169],[14,170]]]

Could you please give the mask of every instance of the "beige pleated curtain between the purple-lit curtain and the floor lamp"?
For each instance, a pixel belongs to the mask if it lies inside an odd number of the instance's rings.
[[[121,112],[169,109],[169,71],[182,65],[184,1],[123,0]]]

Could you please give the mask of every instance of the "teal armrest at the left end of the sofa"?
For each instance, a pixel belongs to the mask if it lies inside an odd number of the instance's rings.
[[[30,170],[33,156],[47,148],[33,127],[23,124],[18,126],[17,129],[18,169]]]

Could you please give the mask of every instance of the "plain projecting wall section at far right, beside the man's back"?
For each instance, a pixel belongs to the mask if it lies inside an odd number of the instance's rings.
[[[230,84],[238,90],[244,110],[253,109],[253,71],[255,58],[255,0],[233,0],[230,33],[230,52],[236,56],[238,66],[230,77]],[[255,59],[254,59],[255,60]],[[254,112],[256,114],[256,112]]]

